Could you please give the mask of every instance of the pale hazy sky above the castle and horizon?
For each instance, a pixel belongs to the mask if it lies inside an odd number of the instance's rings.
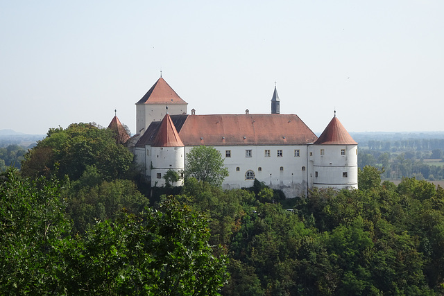
[[[444,1],[0,0],[0,130],[119,119],[162,76],[196,114],[444,130]],[[190,111],[189,111],[190,112]]]

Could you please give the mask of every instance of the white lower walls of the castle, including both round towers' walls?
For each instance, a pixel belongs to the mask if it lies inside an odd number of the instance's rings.
[[[139,168],[151,186],[164,186],[164,173],[182,171],[186,147],[136,148]],[[223,189],[253,186],[255,179],[287,198],[307,195],[309,188],[357,189],[357,145],[215,146],[229,175]],[[174,184],[181,186],[180,184]]]

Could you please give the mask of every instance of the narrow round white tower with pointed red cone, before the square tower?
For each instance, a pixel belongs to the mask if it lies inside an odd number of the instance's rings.
[[[151,159],[151,186],[164,186],[165,173],[171,170],[180,174],[185,168],[185,147],[168,113],[151,144]],[[171,185],[182,186],[182,180]]]

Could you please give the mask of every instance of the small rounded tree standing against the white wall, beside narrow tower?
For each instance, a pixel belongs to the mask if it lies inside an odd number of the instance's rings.
[[[221,153],[212,146],[196,146],[187,153],[185,177],[195,177],[202,182],[221,186],[228,177]]]

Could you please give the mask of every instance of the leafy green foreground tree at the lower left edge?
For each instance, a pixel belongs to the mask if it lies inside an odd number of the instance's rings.
[[[64,207],[57,180],[0,174],[1,295],[62,294],[58,250],[71,229]]]

